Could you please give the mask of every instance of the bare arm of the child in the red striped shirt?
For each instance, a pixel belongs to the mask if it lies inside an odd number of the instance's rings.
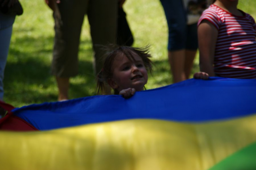
[[[203,20],[198,26],[200,71],[208,73],[209,76],[215,76],[213,64],[217,38],[217,28],[209,21]]]

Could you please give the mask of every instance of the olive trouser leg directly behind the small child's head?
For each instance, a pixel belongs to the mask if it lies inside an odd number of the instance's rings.
[[[98,74],[103,66],[104,45],[117,41],[117,0],[93,0],[88,7],[88,20],[91,28],[94,55],[94,72]],[[106,94],[111,89],[106,85]]]

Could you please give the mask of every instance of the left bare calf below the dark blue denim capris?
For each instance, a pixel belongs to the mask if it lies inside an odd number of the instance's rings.
[[[173,75],[173,83],[186,80],[184,72],[185,50],[168,51],[168,59]]]

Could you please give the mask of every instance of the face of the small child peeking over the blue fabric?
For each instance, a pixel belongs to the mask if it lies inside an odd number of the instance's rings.
[[[125,55],[117,56],[113,62],[113,77],[109,85],[118,91],[135,88],[143,90],[148,81],[147,70],[138,54],[134,55],[135,61],[130,61]]]

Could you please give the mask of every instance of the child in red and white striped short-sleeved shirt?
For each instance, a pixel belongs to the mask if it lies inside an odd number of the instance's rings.
[[[209,76],[256,79],[255,21],[237,4],[215,0],[203,12],[198,22],[200,69]]]

